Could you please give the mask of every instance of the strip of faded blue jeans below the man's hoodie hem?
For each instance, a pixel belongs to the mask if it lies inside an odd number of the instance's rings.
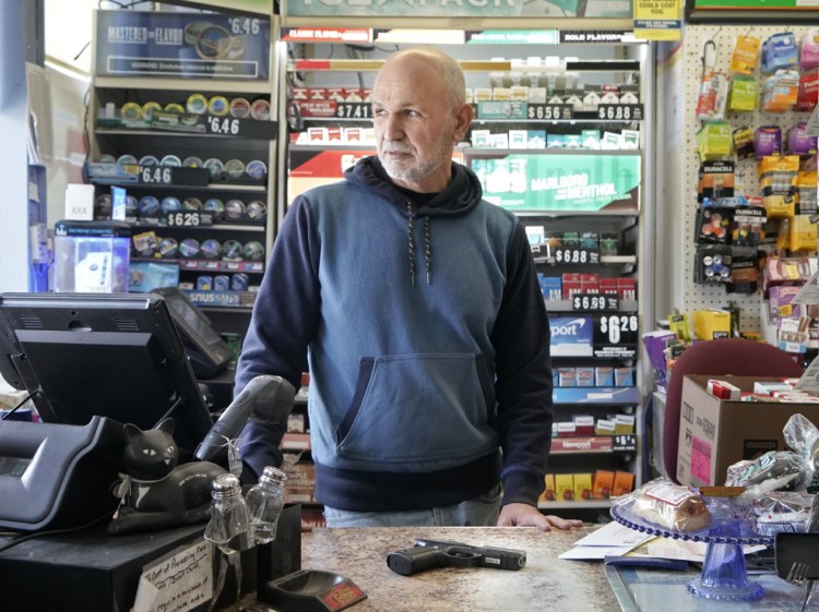
[[[460,504],[419,511],[355,512],[324,506],[328,527],[495,527],[500,485]]]

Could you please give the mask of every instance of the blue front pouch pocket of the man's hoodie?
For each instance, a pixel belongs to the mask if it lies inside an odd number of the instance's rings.
[[[364,359],[336,431],[337,452],[349,460],[429,469],[463,463],[497,447],[494,404],[482,356]]]

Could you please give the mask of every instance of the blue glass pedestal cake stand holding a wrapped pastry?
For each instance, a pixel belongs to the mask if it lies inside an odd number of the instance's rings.
[[[759,583],[748,579],[744,545],[773,544],[773,537],[755,531],[753,523],[735,516],[725,499],[704,497],[711,511],[711,525],[699,531],[670,531],[649,523],[631,512],[633,500],[612,506],[614,519],[631,529],[644,533],[705,542],[705,562],[698,578],[686,588],[692,595],[708,599],[755,601],[764,589]]]

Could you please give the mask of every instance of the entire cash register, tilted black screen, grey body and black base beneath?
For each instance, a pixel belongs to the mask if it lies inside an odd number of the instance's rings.
[[[173,417],[180,460],[194,459],[214,428],[171,308],[178,320],[188,307],[173,291],[0,295],[0,375],[31,395],[44,421],[0,420],[3,610],[128,610],[145,566],[202,541],[204,525],[106,530],[123,423],[150,429]],[[195,334],[189,323],[186,334]],[[206,339],[201,348],[223,359]],[[299,506],[282,512],[276,542],[242,553],[241,592],[300,568]],[[227,577],[221,602],[237,579]]]

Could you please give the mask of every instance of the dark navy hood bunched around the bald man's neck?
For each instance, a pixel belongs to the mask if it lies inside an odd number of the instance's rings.
[[[381,166],[378,157],[370,156],[359,159],[355,166],[344,171],[344,178],[351,182],[366,185],[378,191],[382,196],[406,208],[407,197],[392,182],[387,170]],[[465,215],[477,206],[483,197],[480,182],[477,176],[465,166],[452,163],[452,181],[442,192],[427,204],[416,207],[415,215],[419,217],[458,217]]]

